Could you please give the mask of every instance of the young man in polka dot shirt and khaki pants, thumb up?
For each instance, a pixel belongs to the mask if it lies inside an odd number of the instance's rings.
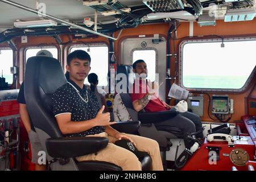
[[[110,113],[103,113],[96,95],[85,85],[84,80],[90,71],[90,56],[82,50],[68,55],[66,65],[69,72],[68,83],[61,86],[52,96],[53,114],[57,124],[66,137],[106,137],[109,144],[96,154],[79,156],[76,159],[99,160],[113,163],[125,170],[141,170],[142,165],[137,156],[114,143],[128,139],[139,151],[147,152],[152,159],[152,170],[163,170],[159,145],[155,140],[137,135],[119,133],[110,125]]]

